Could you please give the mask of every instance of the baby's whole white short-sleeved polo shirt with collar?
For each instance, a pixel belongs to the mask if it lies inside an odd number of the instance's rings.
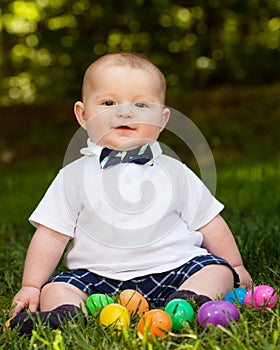
[[[223,205],[158,142],[151,148],[152,166],[101,169],[102,148],[89,141],[84,156],[60,170],[29,219],[72,238],[68,269],[128,280],[207,254],[198,229]]]

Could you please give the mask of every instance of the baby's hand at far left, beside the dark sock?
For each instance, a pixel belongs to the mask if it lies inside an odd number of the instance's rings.
[[[40,289],[36,287],[23,286],[12,301],[11,317],[14,318],[23,309],[28,308],[30,312],[35,312],[39,306]]]

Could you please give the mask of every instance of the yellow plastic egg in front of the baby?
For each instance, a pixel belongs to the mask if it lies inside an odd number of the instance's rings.
[[[100,312],[99,319],[104,326],[118,330],[128,328],[130,325],[130,316],[127,308],[115,303],[105,306]]]

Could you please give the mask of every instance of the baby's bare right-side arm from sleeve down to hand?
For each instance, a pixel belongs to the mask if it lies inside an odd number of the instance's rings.
[[[209,253],[227,260],[238,273],[240,286],[245,289],[250,288],[252,278],[243,265],[235,239],[221,215],[217,215],[198,231],[203,234],[203,247]]]

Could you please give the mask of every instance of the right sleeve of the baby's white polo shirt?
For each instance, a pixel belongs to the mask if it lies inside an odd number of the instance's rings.
[[[196,231],[214,219],[223,210],[224,205],[187,166],[185,172],[187,198],[182,219],[191,230]]]

